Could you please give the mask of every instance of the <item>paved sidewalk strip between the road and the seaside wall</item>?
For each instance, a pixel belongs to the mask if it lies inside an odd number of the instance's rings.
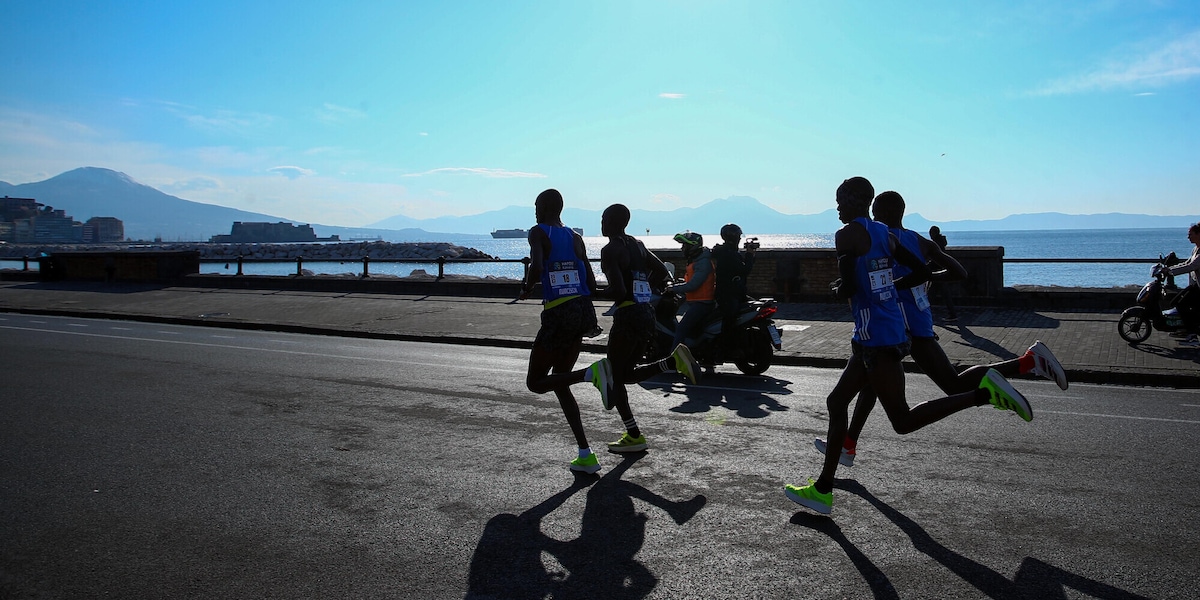
[[[533,300],[494,298],[0,282],[0,312],[511,348],[530,346],[540,308]],[[850,354],[850,317],[842,305],[781,304],[775,323],[784,349],[775,362],[840,368]],[[958,323],[938,323],[937,334],[960,367],[1015,358],[1042,340],[1072,382],[1200,388],[1200,349],[1181,348],[1160,332],[1129,346],[1117,336],[1118,317],[1120,311],[964,307]],[[607,331],[611,318],[600,317],[600,325]],[[604,337],[584,342],[586,350],[604,350]]]

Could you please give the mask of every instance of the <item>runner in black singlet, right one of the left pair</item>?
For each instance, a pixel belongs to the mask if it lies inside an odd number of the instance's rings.
[[[691,350],[678,344],[670,356],[637,365],[646,354],[646,347],[654,335],[654,308],[650,298],[658,287],[661,292],[670,284],[670,274],[659,257],[646,250],[641,241],[625,234],[629,226],[629,209],[613,204],[605,209],[600,218],[600,233],[608,244],[600,251],[600,269],[608,280],[608,287],[598,295],[617,302],[608,332],[608,355],[589,367],[592,383],[600,390],[605,409],[617,408],[625,425],[620,439],[608,444],[612,452],[637,452],[647,449],[646,436],[637,427],[634,412],[629,407],[626,384],[638,383],[659,373],[679,372],[696,383],[700,366]]]

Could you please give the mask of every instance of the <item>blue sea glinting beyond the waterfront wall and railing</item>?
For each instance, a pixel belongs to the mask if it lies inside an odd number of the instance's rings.
[[[1181,258],[1192,254],[1193,245],[1187,239],[1183,223],[1166,229],[1057,229],[1018,232],[942,232],[954,246],[1002,246],[1004,258],[1049,259],[1156,259],[1160,254],[1175,252]],[[748,236],[752,236],[748,235]],[[650,250],[678,248],[670,235],[636,236]],[[833,234],[763,234],[757,235],[766,250],[772,248],[832,248]],[[600,248],[607,241],[601,236],[586,236],[588,257],[600,258]],[[710,246],[720,241],[716,234],[704,234]],[[520,259],[529,254],[524,239],[491,239],[464,236],[454,241],[460,246],[476,248],[496,258]],[[20,269],[20,260],[0,260],[0,269]],[[304,269],[322,275],[361,275],[361,262],[305,262]],[[32,268],[32,265],[31,265]],[[414,271],[437,274],[436,263],[386,263],[371,262],[371,275],[408,276]],[[1085,288],[1111,288],[1142,286],[1150,278],[1148,263],[1006,263],[1004,286],[1061,286]],[[245,275],[294,275],[295,263],[245,263]],[[521,278],[520,263],[446,264],[445,272],[454,275],[493,276]],[[233,274],[236,264],[202,263],[200,272]]]

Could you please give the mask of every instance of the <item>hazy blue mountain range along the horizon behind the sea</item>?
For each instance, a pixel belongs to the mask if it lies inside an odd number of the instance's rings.
[[[234,221],[306,224],[287,216],[263,215],[203,204],[170,196],[139,184],[124,173],[97,167],[83,167],[31,184],[0,181],[0,194],[35,200],[65,210],[76,221],[94,216],[116,217],[125,222],[125,235],[138,240],[161,238],[166,241],[206,241],[212,235],[228,234]],[[670,211],[632,209],[629,233],[666,235],[684,229],[715,233],[736,222],[748,235],[768,233],[832,233],[838,229],[838,212],[832,206],[815,215],[786,215],[749,197],[715,199],[700,208]],[[600,234],[600,211],[568,206],[563,221],[582,227],[587,235]],[[1200,216],[1154,216],[1110,212],[1103,215],[1064,215],[1037,212],[1012,215],[994,221],[930,222],[912,212],[905,226],[926,232],[931,224],[946,232],[1022,230],[1022,229],[1136,229],[1184,227]],[[533,199],[528,206],[508,206],[479,215],[436,218],[410,218],[396,215],[368,227],[312,224],[318,236],[340,235],[382,238],[388,241],[456,241],[487,236],[493,229],[528,228],[534,224]]]

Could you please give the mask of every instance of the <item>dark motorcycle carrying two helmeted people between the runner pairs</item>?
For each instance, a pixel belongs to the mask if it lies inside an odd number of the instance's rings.
[[[665,294],[652,300],[654,305],[654,336],[647,349],[647,358],[661,358],[671,353],[671,340],[678,324],[676,314],[682,305],[678,294]],[[734,322],[732,348],[722,348],[721,314],[713,311],[691,337],[688,348],[702,367],[712,372],[716,365],[733,362],[745,374],[762,374],[770,367],[775,350],[782,348],[782,334],[772,316],[779,310],[775,300],[750,299],[744,302]],[[724,350],[724,352],[722,352]]]

